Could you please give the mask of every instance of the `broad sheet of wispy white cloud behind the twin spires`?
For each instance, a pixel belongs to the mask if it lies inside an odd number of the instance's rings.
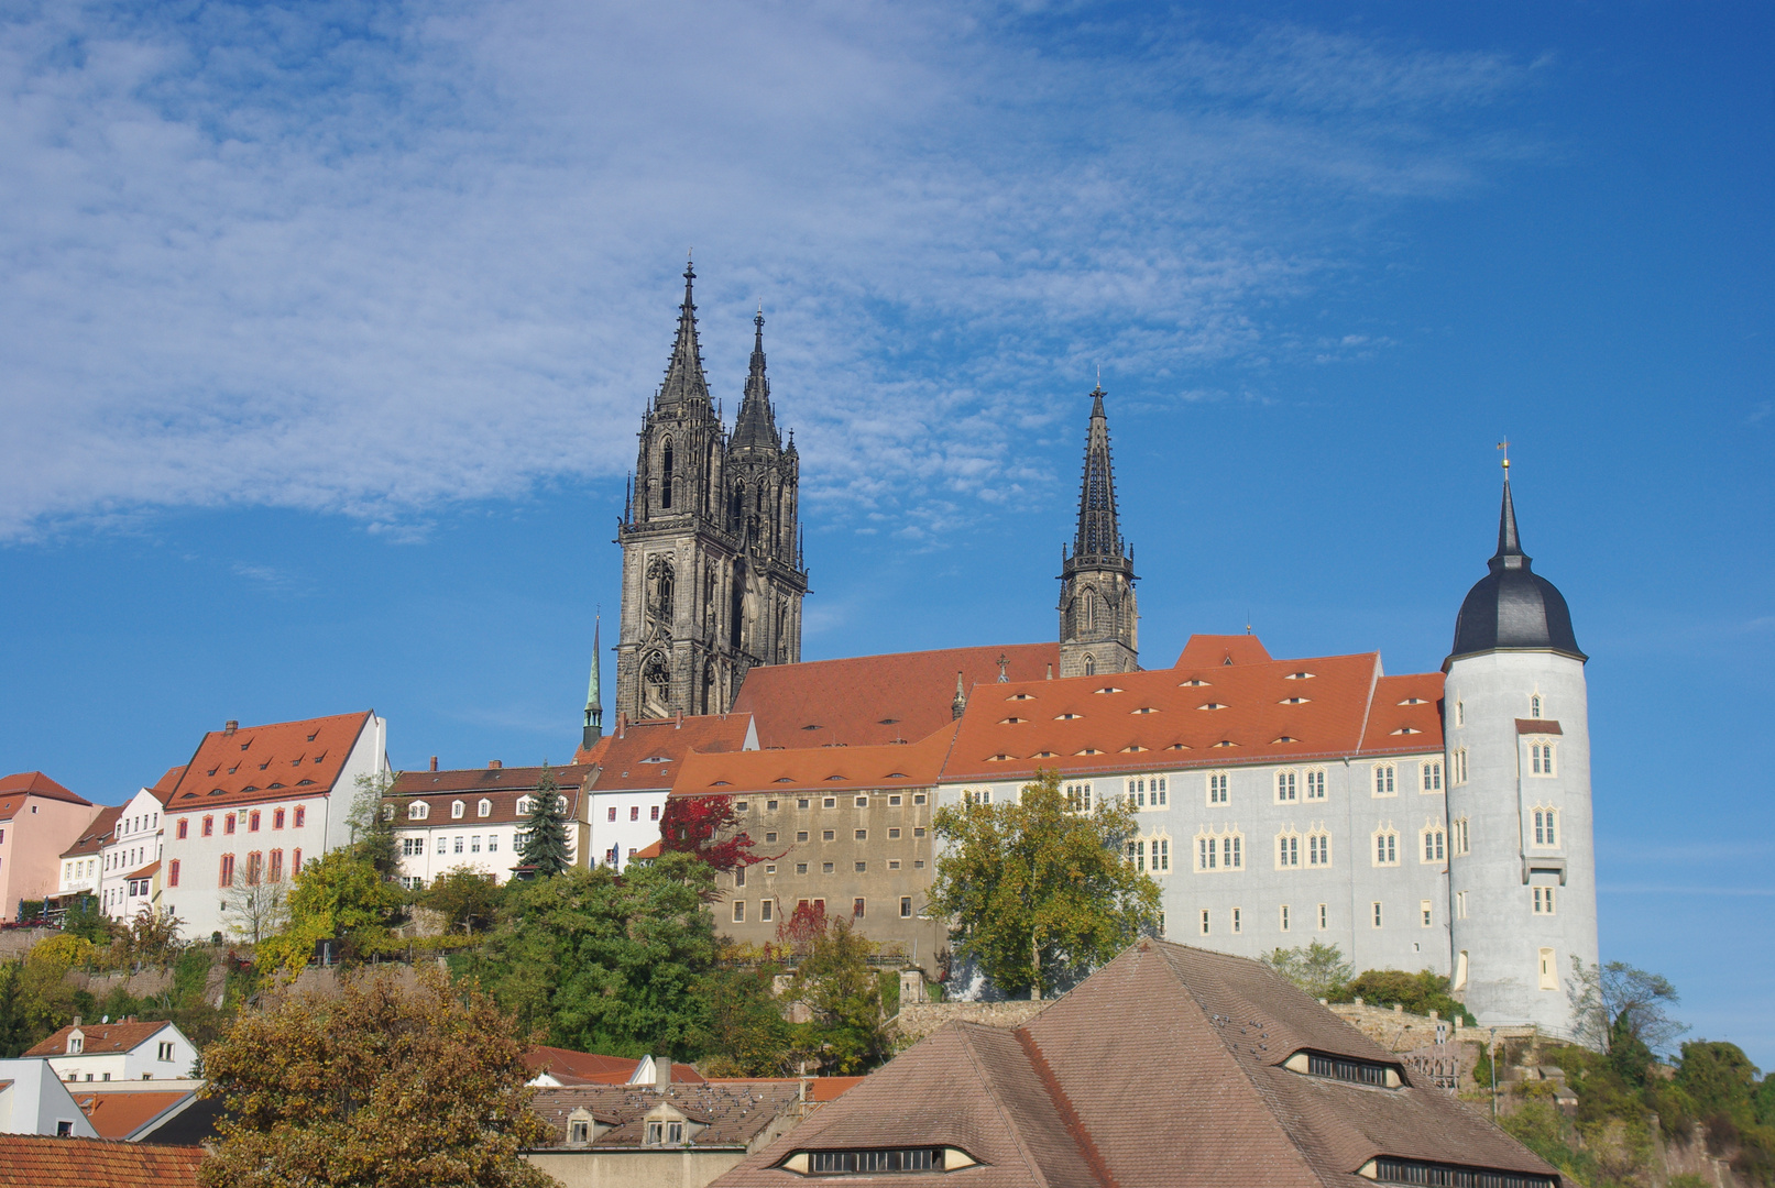
[[[612,475],[694,243],[808,495],[943,534],[1092,362],[1202,399],[1351,225],[1521,151],[1530,67],[937,4],[39,5],[0,25],[0,539],[160,505],[414,532]],[[1063,35],[1053,21],[1069,21]],[[1113,383],[1113,378],[1106,376]],[[422,528],[419,528],[422,530]]]

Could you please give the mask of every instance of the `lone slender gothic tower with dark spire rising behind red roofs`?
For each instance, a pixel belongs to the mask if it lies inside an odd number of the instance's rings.
[[[1085,434],[1085,482],[1072,553],[1060,550],[1060,676],[1140,668],[1140,612],[1134,606],[1134,553],[1124,550],[1115,514],[1109,418],[1104,390],[1092,392]]]

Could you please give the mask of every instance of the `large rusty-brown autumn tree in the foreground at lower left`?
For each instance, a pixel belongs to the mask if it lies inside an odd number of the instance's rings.
[[[518,1154],[547,1128],[524,1087],[525,1043],[479,991],[437,970],[419,988],[348,979],[284,997],[204,1051],[220,1098],[208,1188],[547,1188]]]

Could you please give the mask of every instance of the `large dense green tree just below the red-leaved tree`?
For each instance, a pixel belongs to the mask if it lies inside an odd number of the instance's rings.
[[[714,872],[662,855],[623,874],[573,867],[518,883],[481,966],[524,1030],[580,1051],[641,1057],[698,1053],[715,965],[715,922],[703,908]]]

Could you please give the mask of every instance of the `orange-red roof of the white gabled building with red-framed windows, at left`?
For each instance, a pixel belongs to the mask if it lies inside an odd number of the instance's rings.
[[[167,809],[190,812],[330,793],[366,725],[367,709],[332,718],[209,731],[192,761],[179,770],[165,800]]]

